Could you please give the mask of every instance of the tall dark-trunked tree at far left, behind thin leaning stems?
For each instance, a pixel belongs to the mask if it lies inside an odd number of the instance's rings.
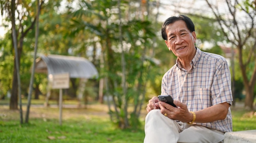
[[[34,11],[32,7],[29,6],[29,4],[30,4],[29,0],[23,1],[23,2],[12,0],[11,4],[9,1],[1,0],[2,13],[3,11],[5,11],[5,13],[7,14],[7,19],[12,21],[11,24],[12,24],[12,33],[13,33],[12,34],[13,48],[17,46],[17,51],[15,52],[17,54],[15,54],[15,58],[14,58],[14,65],[15,65],[14,67],[16,68],[14,68],[13,70],[11,100],[9,105],[10,109],[18,109],[18,91],[19,91],[18,90],[19,88],[18,72],[19,71],[17,70],[17,68],[20,67],[20,57],[22,55],[24,38],[28,34],[28,32],[34,28],[34,25],[36,22],[36,15],[33,14]],[[17,9],[17,6],[20,6],[20,9]],[[17,13],[17,15],[15,15],[15,13]],[[15,39],[17,39],[16,43],[15,43]],[[20,97],[20,100],[21,100],[21,97]]]

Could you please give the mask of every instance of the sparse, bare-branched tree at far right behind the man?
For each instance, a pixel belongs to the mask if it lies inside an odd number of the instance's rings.
[[[252,0],[226,0],[227,11],[221,13],[218,3],[213,4],[209,0],[206,2],[225,37],[238,50],[238,61],[246,91],[245,107],[253,109],[256,85],[256,3]],[[249,52],[245,54],[246,51]],[[254,66],[250,66],[252,63]],[[253,72],[249,74],[250,71]]]

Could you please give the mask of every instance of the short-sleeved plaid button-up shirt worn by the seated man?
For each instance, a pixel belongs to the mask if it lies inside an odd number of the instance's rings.
[[[223,102],[231,104],[233,100],[231,76],[224,57],[202,52],[197,48],[190,65],[191,69],[186,71],[177,59],[176,65],[162,78],[161,95],[171,95],[173,100],[185,103],[189,111],[194,112]],[[222,132],[231,132],[230,108],[224,120],[195,124]]]

